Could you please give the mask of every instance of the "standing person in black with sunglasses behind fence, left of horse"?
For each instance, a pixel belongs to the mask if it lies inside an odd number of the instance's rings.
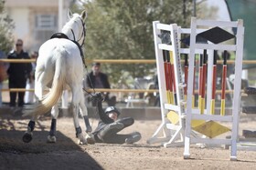
[[[8,59],[30,59],[23,51],[23,41],[16,41],[16,50],[8,55]],[[10,63],[7,70],[9,77],[9,88],[25,88],[26,81],[32,70],[31,63]],[[25,92],[10,92],[10,106],[16,107],[16,94],[18,94],[17,106],[23,107]]]

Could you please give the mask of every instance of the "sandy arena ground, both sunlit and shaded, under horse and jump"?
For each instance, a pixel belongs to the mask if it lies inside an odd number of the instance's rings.
[[[56,144],[47,144],[50,117],[41,117],[36,124],[33,141],[22,142],[28,119],[12,113],[0,114],[0,169],[255,169],[256,152],[238,151],[238,161],[229,161],[230,151],[221,147],[191,147],[191,159],[183,159],[183,147],[165,148],[147,145],[160,120],[135,120],[123,133],[135,130],[143,138],[135,145],[77,145],[73,120],[60,117]],[[256,129],[254,115],[240,119],[240,129]],[[91,119],[93,127],[98,124]],[[80,125],[84,129],[83,120]]]

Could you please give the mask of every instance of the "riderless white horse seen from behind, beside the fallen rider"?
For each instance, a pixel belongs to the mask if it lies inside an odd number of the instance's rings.
[[[50,109],[52,122],[48,142],[56,142],[56,119],[59,115],[58,101],[63,90],[70,88],[72,92],[70,110],[73,113],[76,135],[80,144],[87,144],[79,124],[79,111],[81,110],[86,132],[91,135],[91,125],[82,91],[84,65],[82,52],[80,51],[86,34],[84,23],[86,16],[85,11],[80,15],[72,15],[69,12],[69,22],[64,25],[61,33],[59,33],[59,35],[66,36],[66,38],[51,38],[39,48],[35,78],[35,95],[39,103],[25,110],[25,116],[32,115],[27,125],[27,132],[23,136],[23,141],[26,143],[32,140],[32,132],[35,128],[37,116],[48,113]],[[47,87],[50,90],[48,94],[44,95]]]

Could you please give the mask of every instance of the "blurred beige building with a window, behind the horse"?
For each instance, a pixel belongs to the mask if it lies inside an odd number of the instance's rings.
[[[72,0],[5,0],[6,13],[14,20],[16,26],[15,40],[21,38],[24,40],[25,50],[37,51],[40,45],[59,31],[59,25],[62,27],[66,23],[68,8],[72,2]]]

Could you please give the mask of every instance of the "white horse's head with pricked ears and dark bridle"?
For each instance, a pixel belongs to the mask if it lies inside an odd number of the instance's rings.
[[[74,40],[82,46],[86,35],[85,19],[87,18],[87,13],[84,10],[80,15],[72,14],[69,10],[68,16],[69,22],[64,25],[62,33],[67,35],[70,40]]]

